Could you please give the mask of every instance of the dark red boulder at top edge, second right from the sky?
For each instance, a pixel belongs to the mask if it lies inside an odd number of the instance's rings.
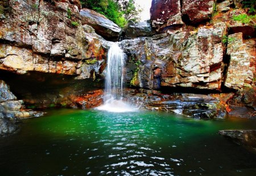
[[[183,21],[198,24],[210,20],[213,13],[213,0],[184,0],[181,5]]]

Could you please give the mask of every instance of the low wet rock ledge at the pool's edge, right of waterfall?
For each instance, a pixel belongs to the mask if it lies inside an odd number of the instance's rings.
[[[145,89],[125,89],[124,98],[140,109],[172,112],[191,118],[226,118],[228,114],[225,104],[213,95],[163,94]]]

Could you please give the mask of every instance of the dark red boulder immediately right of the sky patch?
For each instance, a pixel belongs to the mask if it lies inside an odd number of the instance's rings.
[[[165,27],[184,24],[180,0],[153,0],[150,8],[152,27],[161,32]]]

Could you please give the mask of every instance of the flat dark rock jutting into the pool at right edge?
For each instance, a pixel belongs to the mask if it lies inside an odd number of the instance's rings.
[[[256,130],[221,130],[218,133],[256,152]]]

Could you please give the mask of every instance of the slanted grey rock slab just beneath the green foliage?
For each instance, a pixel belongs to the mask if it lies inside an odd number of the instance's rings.
[[[82,8],[80,11],[82,25],[88,24],[92,26],[98,35],[108,40],[117,41],[122,33],[122,29],[111,20],[88,8]]]

